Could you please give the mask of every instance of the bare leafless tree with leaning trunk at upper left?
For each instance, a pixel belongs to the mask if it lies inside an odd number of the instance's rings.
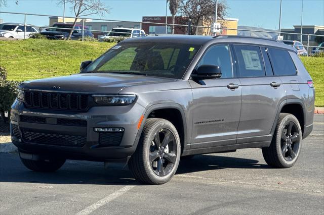
[[[110,13],[110,8],[106,7],[101,0],[58,0],[58,5],[64,5],[64,2],[70,4],[70,10],[74,13],[75,19],[72,29],[67,39],[72,36],[73,29],[79,17],[85,17],[93,14],[99,14],[100,17]]]

